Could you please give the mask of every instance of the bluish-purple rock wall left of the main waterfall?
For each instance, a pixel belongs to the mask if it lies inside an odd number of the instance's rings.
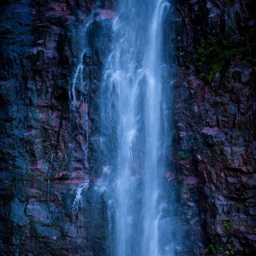
[[[113,6],[91,0],[1,2],[1,255],[104,253],[104,227],[94,218],[105,218],[103,199],[88,192],[83,209],[79,198],[77,206],[74,201],[75,189],[88,186],[99,172],[90,138],[97,140],[95,94],[110,45]],[[94,22],[85,31],[90,17]],[[91,51],[82,60],[86,91],[75,90],[71,103],[70,86],[84,47]],[[90,214],[79,219],[78,210]]]

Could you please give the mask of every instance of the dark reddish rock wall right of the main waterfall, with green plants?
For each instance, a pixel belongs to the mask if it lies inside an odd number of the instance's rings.
[[[255,2],[177,5],[176,161],[201,180],[208,254],[254,255]]]

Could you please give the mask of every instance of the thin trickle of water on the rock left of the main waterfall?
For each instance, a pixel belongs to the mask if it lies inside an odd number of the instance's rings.
[[[89,88],[90,85],[86,84],[84,79],[85,73],[85,65],[84,65],[84,57],[90,56],[91,50],[88,46],[88,32],[90,30],[91,24],[94,22],[94,14],[95,10],[97,10],[97,6],[91,12],[90,16],[86,18],[85,22],[82,24],[81,30],[81,53],[79,54],[79,58],[77,60],[77,66],[74,71],[74,77],[72,82],[70,83],[70,91],[69,91],[69,98],[70,98],[70,116],[72,117],[70,120],[70,126],[73,131],[73,136],[71,139],[72,144],[70,144],[70,150],[73,154],[74,145],[73,143],[81,143],[84,144],[84,162],[85,166],[83,172],[86,172],[86,168],[88,166],[88,147],[89,147],[89,134],[90,134],[90,125],[89,125],[89,103],[90,97],[88,96],[88,92],[86,88]],[[87,89],[88,90],[88,89]],[[82,129],[79,126],[79,122],[83,122]],[[85,142],[82,143],[82,139],[85,139]],[[71,155],[72,155],[71,154]],[[73,157],[73,155],[72,155]],[[73,158],[71,158],[72,162]],[[73,168],[73,166],[71,166]],[[82,232],[83,228],[83,218],[82,218],[82,206],[84,201],[82,200],[82,193],[87,190],[89,187],[89,180],[84,180],[76,190],[72,212],[74,216],[77,216],[77,219],[74,218],[74,223],[76,223],[76,238],[78,240],[78,255],[82,255],[85,249],[84,246],[84,234]]]

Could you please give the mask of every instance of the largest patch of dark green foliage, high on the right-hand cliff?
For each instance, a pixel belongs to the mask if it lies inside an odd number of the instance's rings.
[[[220,72],[234,54],[245,54],[248,50],[250,50],[250,37],[241,37],[237,41],[234,39],[222,40],[222,38],[212,35],[202,38],[196,47],[196,54],[194,54],[198,66],[204,70],[199,77],[212,80],[214,74]],[[243,63],[246,66],[256,66],[256,59],[250,54],[246,54]]]

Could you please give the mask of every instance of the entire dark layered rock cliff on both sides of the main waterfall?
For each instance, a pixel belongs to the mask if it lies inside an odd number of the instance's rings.
[[[110,254],[106,199],[89,185],[100,182],[98,84],[114,4],[0,4],[1,255]],[[178,214],[193,254],[206,254],[202,241],[209,254],[253,255],[255,3],[180,0],[175,7]],[[234,50],[226,53],[226,45]],[[83,90],[74,82],[80,64]],[[79,194],[81,186],[89,189]]]

